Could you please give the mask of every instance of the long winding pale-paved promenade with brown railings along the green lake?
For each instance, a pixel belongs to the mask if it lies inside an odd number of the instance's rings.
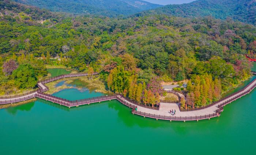
[[[93,73],[93,75],[97,75],[98,73]],[[254,72],[255,74],[255,72]],[[249,83],[245,88],[242,90],[229,95],[226,98],[221,99],[214,104],[207,106],[200,110],[193,110],[193,111],[180,111],[178,103],[160,103],[160,107],[155,109],[150,106],[140,105],[135,103],[128,98],[123,97],[121,94],[114,94],[110,96],[102,96],[102,97],[95,97],[95,98],[87,98],[82,100],[76,101],[69,101],[67,99],[54,97],[49,94],[44,94],[49,88],[45,86],[45,83],[52,82],[54,80],[66,78],[66,77],[76,77],[76,76],[88,76],[87,73],[79,73],[79,74],[68,74],[68,75],[60,75],[57,77],[53,77],[50,79],[46,79],[37,83],[39,89],[36,91],[32,91],[27,94],[17,95],[14,97],[0,97],[0,104],[9,104],[15,103],[20,101],[25,101],[31,98],[42,98],[47,101],[57,103],[67,107],[78,107],[81,105],[89,105],[91,103],[102,102],[102,101],[109,101],[112,99],[117,99],[119,102],[123,103],[124,105],[132,108],[132,113],[137,114],[144,117],[150,117],[155,119],[161,120],[174,120],[174,121],[190,121],[190,120],[203,120],[203,119],[210,119],[212,117],[220,116],[221,111],[223,110],[223,106],[233,102],[234,100],[241,98],[242,96],[251,92],[256,86],[256,79]],[[175,92],[174,92],[175,93]],[[177,94],[177,93],[176,93]],[[177,95],[182,95],[178,93]],[[136,109],[136,110],[135,110]],[[172,116],[169,111],[171,109],[176,110],[176,114]]]

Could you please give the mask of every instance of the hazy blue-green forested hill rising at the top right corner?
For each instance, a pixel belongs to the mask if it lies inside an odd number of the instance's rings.
[[[188,4],[166,5],[137,15],[165,14],[180,17],[213,16],[226,19],[227,17],[240,22],[256,25],[255,0],[197,0]]]

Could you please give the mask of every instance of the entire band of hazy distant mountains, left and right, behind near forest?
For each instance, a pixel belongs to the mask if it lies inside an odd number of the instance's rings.
[[[172,15],[185,18],[213,16],[256,25],[255,0],[196,0],[161,6],[141,0],[15,0],[19,3],[74,14],[117,16]],[[140,12],[143,11],[143,12]],[[137,14],[136,14],[137,13]]]

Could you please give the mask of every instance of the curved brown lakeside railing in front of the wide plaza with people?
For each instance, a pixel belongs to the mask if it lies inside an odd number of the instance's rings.
[[[220,113],[212,113],[212,114],[200,115],[200,116],[176,117],[176,116],[165,116],[165,115],[163,116],[163,115],[150,114],[150,113],[145,113],[141,111],[136,111],[135,109],[132,110],[132,113],[140,116],[144,116],[144,117],[149,117],[149,118],[154,118],[159,120],[170,120],[170,121],[196,121],[196,120],[204,120],[207,118],[213,118],[220,115]]]

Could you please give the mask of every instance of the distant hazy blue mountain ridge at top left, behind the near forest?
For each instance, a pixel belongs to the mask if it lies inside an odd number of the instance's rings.
[[[162,5],[142,0],[15,0],[18,3],[46,8],[56,12],[94,14],[115,17],[132,15]]]

